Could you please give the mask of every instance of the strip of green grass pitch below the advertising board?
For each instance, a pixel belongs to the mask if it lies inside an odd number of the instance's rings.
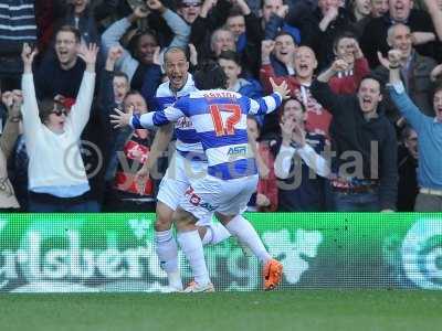
[[[2,331],[442,330],[442,292],[0,295]]]

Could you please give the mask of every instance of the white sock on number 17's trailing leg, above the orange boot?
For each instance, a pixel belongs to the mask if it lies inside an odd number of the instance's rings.
[[[265,249],[264,244],[252,224],[250,224],[250,222],[242,215],[234,216],[225,227],[233,236],[238,237],[243,244],[249,246],[262,263],[272,259],[272,256],[269,254],[267,249]]]

